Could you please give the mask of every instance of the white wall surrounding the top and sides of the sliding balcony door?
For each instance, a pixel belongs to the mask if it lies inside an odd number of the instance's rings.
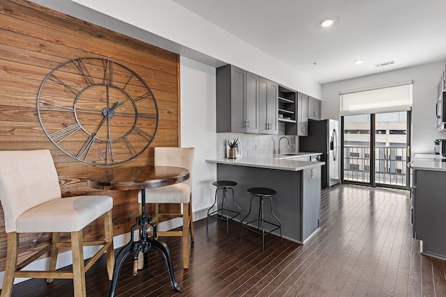
[[[435,104],[438,99],[438,82],[444,62],[409,67],[381,74],[348,79],[322,86],[322,118],[340,119],[339,92],[386,83],[413,80],[412,155],[416,152],[433,153],[433,140],[446,138],[436,131]]]

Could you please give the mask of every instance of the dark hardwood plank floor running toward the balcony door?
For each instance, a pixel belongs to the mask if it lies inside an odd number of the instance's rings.
[[[238,198],[240,199],[240,198]],[[159,252],[132,276],[123,264],[117,296],[446,296],[445,262],[420,255],[412,238],[408,191],[340,185],[323,190],[321,228],[305,246],[277,236],[261,237],[240,225],[210,219],[194,223],[190,268],[181,268],[179,238],[171,249],[176,293]],[[105,259],[86,275],[87,294],[108,296]],[[71,280],[28,280],[13,296],[72,296]]]

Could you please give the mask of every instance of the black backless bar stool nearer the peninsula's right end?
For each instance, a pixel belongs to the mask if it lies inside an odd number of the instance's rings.
[[[282,223],[280,223],[279,218],[277,218],[277,216],[274,214],[274,212],[272,212],[272,198],[271,198],[271,196],[275,195],[277,192],[275,190],[272,190],[272,188],[248,188],[247,193],[251,194],[252,196],[251,196],[251,200],[249,201],[249,212],[245,216],[245,218],[243,218],[243,220],[242,220],[242,227],[245,227],[247,230],[251,230],[252,232],[255,232],[257,234],[261,234],[261,236],[262,236],[262,252],[263,252],[263,251],[265,251],[265,236],[270,234],[271,232],[279,229],[280,230],[280,241],[283,241],[283,239],[282,239]],[[267,197],[270,198],[271,214],[272,214],[272,216],[274,216],[274,218],[277,220],[277,222],[279,222],[279,225],[277,225],[275,223],[268,222],[268,220],[263,220],[263,198],[267,198]],[[249,214],[251,214],[252,198],[259,198],[259,200],[260,200],[259,218],[251,220],[250,222],[247,222],[247,223],[243,223],[243,221],[249,216]],[[257,230],[253,227],[248,226],[248,224],[254,223],[254,222],[259,222],[259,227],[257,228]],[[275,228],[268,232],[265,232],[264,223],[273,225],[273,226],[275,226]],[[242,228],[240,228],[240,239],[242,239]]]

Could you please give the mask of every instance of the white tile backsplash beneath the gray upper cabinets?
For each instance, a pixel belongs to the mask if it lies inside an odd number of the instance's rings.
[[[277,154],[279,149],[279,139],[284,135],[280,134],[281,129],[279,127],[279,135],[263,135],[263,134],[243,134],[243,133],[217,133],[217,158],[226,158],[226,139],[232,140],[238,138],[241,144],[242,156],[257,156],[261,154]],[[286,136],[288,141],[282,139],[281,147],[282,152],[298,152],[297,140],[298,136]]]

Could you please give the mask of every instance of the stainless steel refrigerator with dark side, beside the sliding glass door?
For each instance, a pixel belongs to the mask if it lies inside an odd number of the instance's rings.
[[[300,152],[321,152],[322,187],[341,182],[339,121],[308,120],[308,136],[299,137]]]

